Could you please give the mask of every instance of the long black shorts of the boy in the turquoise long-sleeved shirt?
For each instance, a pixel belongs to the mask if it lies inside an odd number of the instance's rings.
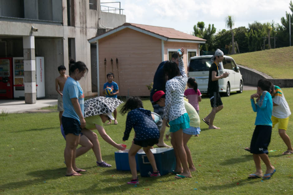
[[[255,126],[251,143],[250,153],[252,154],[268,154],[267,147],[271,142],[271,126],[257,125]]]

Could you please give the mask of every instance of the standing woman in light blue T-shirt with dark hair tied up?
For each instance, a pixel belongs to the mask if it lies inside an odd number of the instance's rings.
[[[67,78],[63,89],[64,112],[61,118],[66,138],[64,158],[67,170],[65,176],[80,176],[79,172],[85,171],[76,167],[75,156],[81,129],[86,124],[84,120],[84,93],[78,81],[84,77],[87,71],[88,68],[83,62],[70,60],[70,77]]]

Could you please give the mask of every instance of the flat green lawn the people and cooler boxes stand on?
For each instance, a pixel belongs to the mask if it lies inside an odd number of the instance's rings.
[[[293,88],[283,89],[293,108]],[[191,179],[175,179],[168,174],[160,178],[142,178],[140,184],[127,185],[130,171],[117,171],[114,147],[98,136],[103,160],[112,168],[99,168],[92,151],[77,158],[79,168],[87,170],[82,176],[65,177],[63,152],[65,140],[59,128],[58,112],[8,114],[0,116],[0,194],[292,194],[293,155],[282,155],[286,146],[273,128],[269,153],[276,173],[269,180],[247,179],[255,171],[252,155],[243,148],[250,145],[256,114],[250,105],[255,91],[232,93],[223,97],[224,109],[215,118],[220,130],[208,130],[201,123],[199,137],[192,137],[189,147],[197,171]],[[149,100],[143,101],[151,109]],[[199,104],[199,116],[210,112],[208,98]],[[118,125],[105,125],[115,142],[122,143],[126,116],[118,115]],[[97,131],[95,131],[97,133]],[[293,118],[288,135],[293,140]],[[130,137],[134,133],[131,132]],[[165,140],[168,145],[170,141]],[[126,144],[131,146],[132,139]],[[263,171],[265,166],[262,163]]]

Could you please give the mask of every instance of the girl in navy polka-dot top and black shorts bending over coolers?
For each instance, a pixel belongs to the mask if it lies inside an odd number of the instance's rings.
[[[124,132],[123,142],[128,140],[129,133],[133,128],[135,131],[135,138],[133,139],[132,146],[128,152],[129,166],[132,174],[132,180],[128,184],[139,184],[135,155],[137,151],[143,148],[148,160],[153,168],[153,173],[149,172],[151,177],[161,176],[157,170],[156,161],[151,146],[159,142],[160,132],[155,123],[155,117],[151,114],[150,110],[143,109],[142,100],[138,97],[130,97],[123,105],[120,113],[127,114],[126,127]]]

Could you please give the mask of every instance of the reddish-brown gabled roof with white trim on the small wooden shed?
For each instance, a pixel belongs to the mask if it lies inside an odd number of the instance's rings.
[[[102,39],[108,35],[116,33],[122,29],[130,28],[133,30],[140,31],[150,36],[154,36],[158,39],[162,39],[165,41],[174,41],[174,42],[189,42],[189,43],[205,43],[205,39],[201,39],[199,37],[189,35],[187,33],[181,32],[179,30],[175,30],[173,28],[166,28],[160,26],[150,26],[143,24],[134,24],[134,23],[124,23],[122,26],[118,26],[108,32],[103,33],[102,35],[98,35],[89,39],[89,43],[94,43],[98,39]]]

